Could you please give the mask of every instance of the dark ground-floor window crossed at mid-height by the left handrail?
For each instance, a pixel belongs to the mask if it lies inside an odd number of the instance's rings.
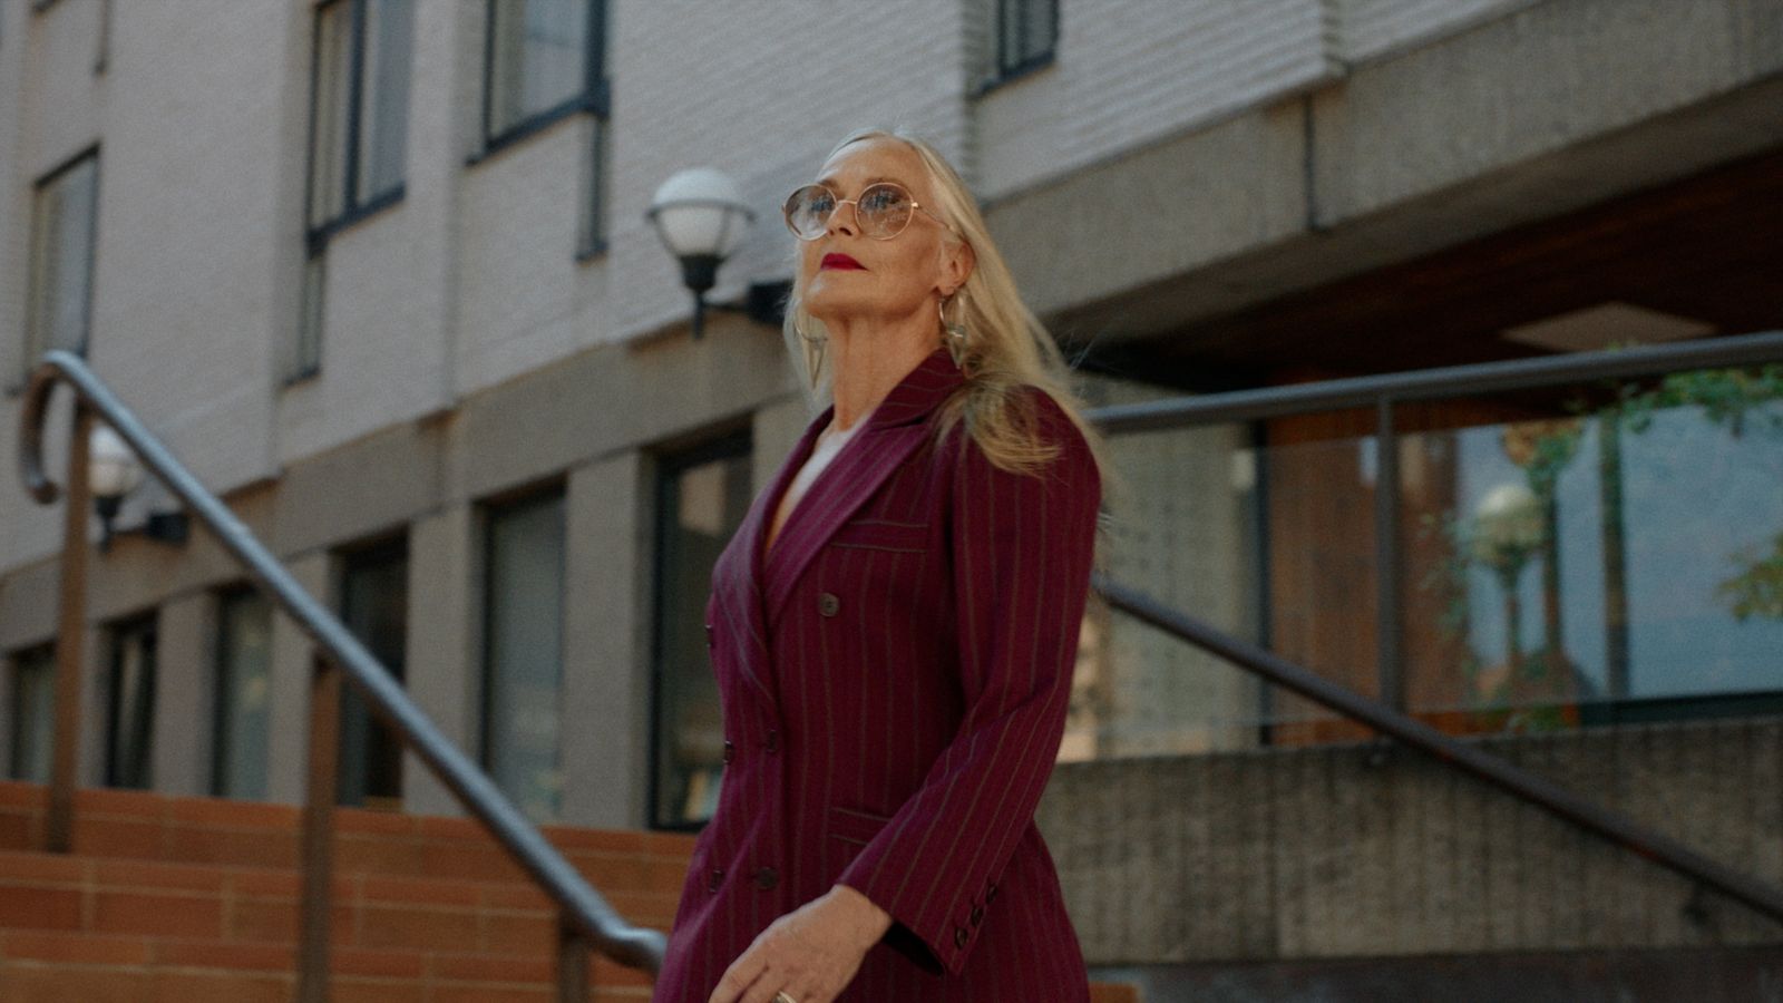
[[[403,682],[408,635],[408,544],[396,539],[348,553],[341,575],[341,619],[378,662]],[[371,717],[351,684],[341,687],[339,803],[401,808],[401,741]]]

